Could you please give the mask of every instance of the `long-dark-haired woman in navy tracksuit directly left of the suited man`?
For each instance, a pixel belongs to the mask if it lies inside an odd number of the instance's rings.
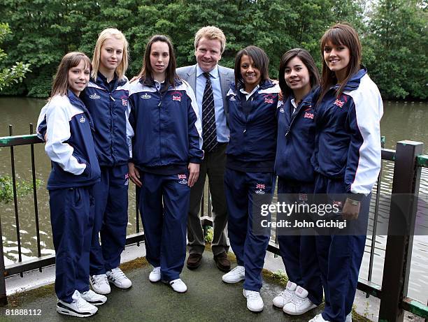
[[[202,151],[201,120],[190,85],[176,75],[173,45],[153,36],[145,48],[139,80],[129,89],[134,129],[129,177],[140,186],[139,206],[149,280],[162,279],[184,293],[190,187],[197,181]]]

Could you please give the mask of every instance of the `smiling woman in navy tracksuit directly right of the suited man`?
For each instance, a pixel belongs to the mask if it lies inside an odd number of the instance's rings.
[[[253,231],[254,210],[270,203],[275,189],[276,105],[278,85],[269,80],[269,58],[256,46],[238,52],[235,85],[227,93],[230,140],[224,173],[229,240],[238,266],[223,275],[226,283],[245,279],[243,294],[252,312],[262,311],[259,291],[269,230]],[[259,198],[262,197],[262,198]],[[258,208],[259,209],[259,208]]]

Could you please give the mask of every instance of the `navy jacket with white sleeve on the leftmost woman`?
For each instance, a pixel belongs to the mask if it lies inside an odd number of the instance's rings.
[[[45,152],[52,160],[48,189],[99,182],[100,168],[92,137],[93,122],[85,104],[69,91],[54,96],[41,111],[38,133],[48,128]],[[44,132],[43,132],[44,133]]]

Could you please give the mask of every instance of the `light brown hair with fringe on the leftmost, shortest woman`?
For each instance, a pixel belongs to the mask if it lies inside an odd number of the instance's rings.
[[[69,89],[69,70],[78,66],[80,61],[85,62],[85,68],[91,69],[91,61],[83,52],[69,52],[62,57],[52,84],[50,97],[67,94]]]

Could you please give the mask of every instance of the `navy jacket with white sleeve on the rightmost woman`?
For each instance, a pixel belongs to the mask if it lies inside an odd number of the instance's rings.
[[[343,179],[352,198],[367,196],[380,170],[380,118],[382,98],[365,68],[349,81],[336,98],[332,87],[316,107],[315,152],[317,173]]]

